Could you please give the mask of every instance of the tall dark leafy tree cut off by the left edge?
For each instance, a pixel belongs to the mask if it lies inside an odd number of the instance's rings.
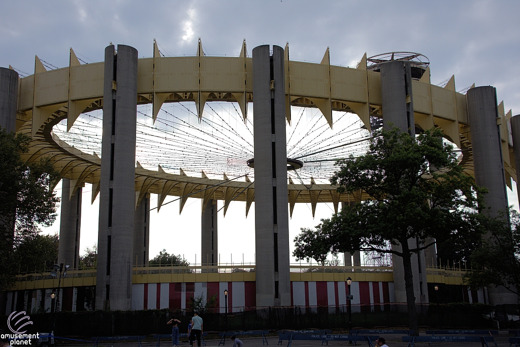
[[[51,188],[58,172],[49,158],[23,161],[30,142],[28,136],[0,130],[0,291],[14,283],[21,266],[12,256],[14,247],[56,219],[59,198]]]

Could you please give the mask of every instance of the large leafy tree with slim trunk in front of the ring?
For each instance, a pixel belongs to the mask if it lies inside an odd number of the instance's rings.
[[[374,132],[368,153],[339,161],[340,169],[331,178],[338,192],[361,191],[369,200],[322,219],[316,228],[316,237],[326,235],[334,254],[362,250],[402,258],[409,324],[415,331],[412,254],[431,246],[432,238],[457,241],[483,233],[477,206],[485,190],[464,174],[457,152],[443,145],[440,136],[433,129],[415,139],[397,128]],[[418,246],[410,247],[409,239]],[[394,247],[388,249],[388,243]],[[305,246],[297,243],[294,255],[305,255]]]

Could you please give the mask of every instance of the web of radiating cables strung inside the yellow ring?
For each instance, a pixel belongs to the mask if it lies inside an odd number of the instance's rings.
[[[206,103],[199,122],[195,105],[190,102],[164,104],[155,124],[151,104],[137,106],[136,161],[145,168],[158,165],[172,174],[182,169],[188,176],[222,179],[248,175],[253,158],[253,107],[243,122],[235,103]],[[329,183],[337,170],[336,160],[358,156],[368,149],[370,132],[362,128],[356,114],[333,112],[331,129],[316,108],[291,106],[292,126],[287,124],[287,157],[303,163],[288,171],[298,183]],[[101,155],[102,110],[83,113],[69,132],[66,120],[53,131],[63,141],[83,152]],[[295,183],[296,183],[295,181]]]

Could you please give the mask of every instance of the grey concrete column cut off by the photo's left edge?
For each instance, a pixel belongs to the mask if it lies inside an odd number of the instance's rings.
[[[16,130],[18,109],[18,72],[0,68],[0,127]]]

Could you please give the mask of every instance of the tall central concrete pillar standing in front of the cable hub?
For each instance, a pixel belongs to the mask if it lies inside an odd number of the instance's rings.
[[[283,48],[253,49],[256,305],[291,305]]]

